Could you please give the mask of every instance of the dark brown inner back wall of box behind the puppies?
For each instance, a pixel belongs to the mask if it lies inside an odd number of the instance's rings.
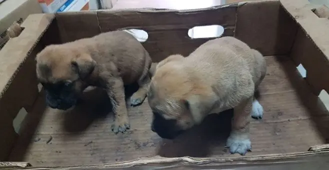
[[[194,26],[221,25],[222,36],[234,35],[264,55],[289,53],[296,32],[295,22],[277,0],[230,4],[202,12],[138,10],[58,13],[61,40],[67,42],[123,28],[143,29],[148,33],[143,45],[156,62],[173,53],[188,55],[208,40],[191,39],[187,32]]]

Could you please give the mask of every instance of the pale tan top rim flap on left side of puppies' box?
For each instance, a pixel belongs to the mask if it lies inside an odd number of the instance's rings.
[[[53,18],[53,14],[31,14],[21,24],[25,29],[19,38],[10,39],[0,50],[0,98]]]

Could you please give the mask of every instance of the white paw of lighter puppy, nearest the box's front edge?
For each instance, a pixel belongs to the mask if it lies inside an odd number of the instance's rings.
[[[247,151],[251,151],[251,141],[248,137],[239,135],[230,135],[227,138],[226,146],[229,147],[229,152],[245,155]]]

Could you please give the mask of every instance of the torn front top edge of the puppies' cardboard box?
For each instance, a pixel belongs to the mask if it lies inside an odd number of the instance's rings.
[[[286,154],[265,154],[257,156],[239,156],[232,158],[220,158],[220,157],[161,157],[161,156],[147,156],[140,157],[134,160],[120,161],[115,163],[103,163],[93,165],[73,165],[73,166],[53,166],[53,167],[41,167],[30,165],[27,162],[0,162],[1,164],[12,164],[16,166],[10,166],[15,169],[20,167],[27,167],[27,169],[79,169],[79,168],[124,168],[133,166],[187,166],[187,165],[228,165],[233,162],[238,164],[245,163],[286,163],[286,162],[307,162],[325,158],[329,156],[329,144],[315,145],[311,147],[311,151],[295,152]],[[310,149],[311,149],[310,148]],[[3,166],[9,167],[9,166]],[[0,168],[2,168],[0,166]]]

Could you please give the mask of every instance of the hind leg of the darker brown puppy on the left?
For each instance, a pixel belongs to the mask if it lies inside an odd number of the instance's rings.
[[[142,75],[139,77],[137,83],[139,88],[136,92],[134,92],[130,97],[130,104],[131,105],[138,105],[141,104],[146,95],[149,88],[149,83],[151,81],[149,75],[149,68],[152,64],[152,60],[149,57],[146,57],[146,63]]]

